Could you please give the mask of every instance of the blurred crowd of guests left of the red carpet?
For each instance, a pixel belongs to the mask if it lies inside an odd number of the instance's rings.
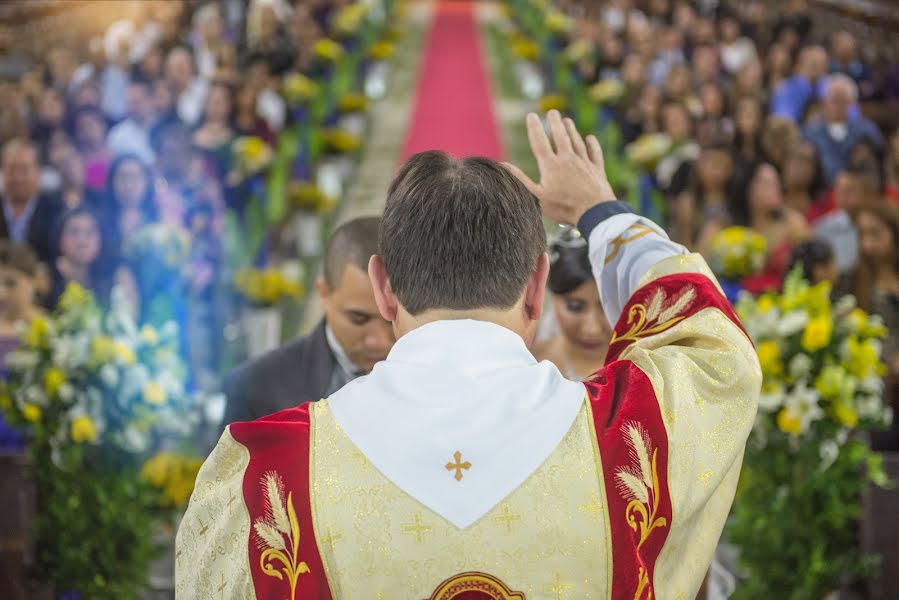
[[[101,303],[119,284],[141,320],[181,322],[190,371],[214,386],[223,214],[245,200],[229,178],[231,145],[275,142],[288,120],[283,76],[311,67],[348,4],[146,0],[82,48],[47,40],[40,56],[10,55],[15,64],[0,65],[0,324],[52,309],[70,281]],[[155,259],[177,262],[166,265],[174,278],[145,277],[153,269],[129,252],[159,226]],[[172,253],[178,239],[183,257]],[[23,286],[24,305],[11,300]],[[163,314],[159,296],[171,304]]]

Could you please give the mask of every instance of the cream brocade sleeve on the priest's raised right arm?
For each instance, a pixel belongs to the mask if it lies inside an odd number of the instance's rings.
[[[717,282],[691,254],[660,262],[640,284],[684,272]],[[720,311],[706,309],[635,342],[620,358],[649,376],[668,433],[673,518],[655,563],[655,597],[693,600],[730,512],[755,420],[762,377],[755,349]]]

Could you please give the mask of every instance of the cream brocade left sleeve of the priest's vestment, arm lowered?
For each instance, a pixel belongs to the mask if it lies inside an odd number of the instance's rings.
[[[256,592],[247,560],[250,515],[243,478],[250,453],[226,429],[203,463],[175,541],[175,597],[240,598]]]

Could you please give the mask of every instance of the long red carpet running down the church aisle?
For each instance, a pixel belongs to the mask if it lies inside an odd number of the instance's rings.
[[[471,2],[435,7],[402,158],[434,149],[503,156]]]

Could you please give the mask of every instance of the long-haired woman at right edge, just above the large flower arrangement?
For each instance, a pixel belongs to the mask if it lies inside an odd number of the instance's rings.
[[[889,332],[883,358],[899,374],[899,208],[883,199],[863,203],[854,211],[859,261],[851,277],[858,305],[880,315]]]

